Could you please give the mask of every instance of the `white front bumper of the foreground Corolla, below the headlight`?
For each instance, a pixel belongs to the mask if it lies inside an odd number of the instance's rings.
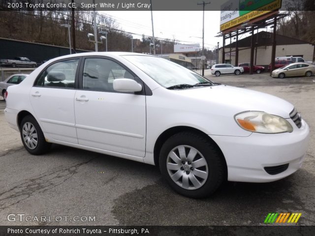
[[[301,128],[287,119],[292,133],[260,134],[248,137],[210,137],[218,144],[227,164],[228,180],[240,182],[271,182],[287,177],[301,166],[308,148],[309,126],[302,120]],[[289,164],[283,172],[270,175],[264,167]]]

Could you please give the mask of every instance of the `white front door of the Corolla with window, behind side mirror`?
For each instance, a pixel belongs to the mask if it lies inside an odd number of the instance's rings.
[[[86,58],[80,71],[82,89],[74,96],[79,145],[144,157],[146,97],[113,89],[115,79],[134,76],[106,58]]]

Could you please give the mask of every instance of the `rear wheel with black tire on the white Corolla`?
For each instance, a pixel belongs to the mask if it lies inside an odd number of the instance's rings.
[[[34,131],[32,131],[33,128],[34,128]],[[37,134],[37,138],[35,137],[35,134]],[[28,115],[22,119],[22,122],[20,124],[20,135],[21,135],[21,139],[22,139],[22,143],[24,147],[31,154],[40,155],[49,151],[51,143],[46,142],[45,136],[39,124],[37,123],[36,119],[33,118],[31,115]],[[29,139],[29,142],[27,141],[28,139]],[[36,145],[34,145],[32,141],[33,142],[36,141],[37,142]],[[34,146],[33,148],[31,147],[32,146],[31,143]]]

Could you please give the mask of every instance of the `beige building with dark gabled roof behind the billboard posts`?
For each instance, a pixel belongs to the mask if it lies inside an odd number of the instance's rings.
[[[272,53],[272,33],[260,31],[253,35],[254,39],[254,64],[269,65]],[[238,40],[238,63],[250,61],[252,35]],[[235,65],[235,42],[225,45],[225,60],[222,61],[222,48],[219,49],[220,63]],[[230,54],[231,52],[231,54]],[[302,57],[306,61],[313,61],[314,45],[310,42],[276,34],[276,57]]]

